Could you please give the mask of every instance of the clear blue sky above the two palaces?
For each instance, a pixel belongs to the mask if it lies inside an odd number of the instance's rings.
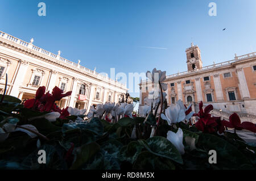
[[[46,16],[38,16],[38,3]],[[209,16],[209,3],[217,16]],[[199,45],[203,65],[256,51],[256,1],[1,0],[0,30],[96,71],[186,71],[185,49]],[[226,31],[222,31],[227,28]],[[162,49],[145,48],[159,47]],[[139,90],[135,90],[139,91]],[[131,94],[139,96],[139,93]]]

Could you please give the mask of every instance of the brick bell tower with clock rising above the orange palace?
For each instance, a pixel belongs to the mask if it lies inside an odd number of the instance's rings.
[[[186,49],[186,54],[188,71],[201,69],[203,67],[200,49],[197,45],[193,45],[193,42],[191,43],[191,47]]]

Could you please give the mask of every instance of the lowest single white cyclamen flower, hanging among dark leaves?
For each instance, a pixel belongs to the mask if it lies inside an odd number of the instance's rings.
[[[178,129],[177,133],[168,131],[167,140],[171,141],[171,143],[179,150],[180,154],[184,154],[184,145],[183,145],[183,131],[182,129]]]

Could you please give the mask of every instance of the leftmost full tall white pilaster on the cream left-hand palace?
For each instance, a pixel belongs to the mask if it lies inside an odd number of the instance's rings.
[[[15,75],[13,82],[13,87],[11,89],[10,95],[18,97],[19,96],[19,86],[22,86],[24,77],[27,73],[28,61],[20,60],[18,63],[18,70]]]

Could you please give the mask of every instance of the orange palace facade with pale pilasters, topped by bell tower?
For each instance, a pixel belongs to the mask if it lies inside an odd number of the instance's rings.
[[[237,56],[234,60],[203,67],[198,46],[191,44],[185,50],[187,71],[166,76],[168,84],[167,103],[183,100],[192,103],[192,110],[199,111],[199,102],[204,106],[213,104],[214,116],[224,119],[236,112],[242,121],[256,123],[256,52]],[[140,104],[143,105],[150,82],[140,83]],[[151,89],[151,90],[150,90]]]

